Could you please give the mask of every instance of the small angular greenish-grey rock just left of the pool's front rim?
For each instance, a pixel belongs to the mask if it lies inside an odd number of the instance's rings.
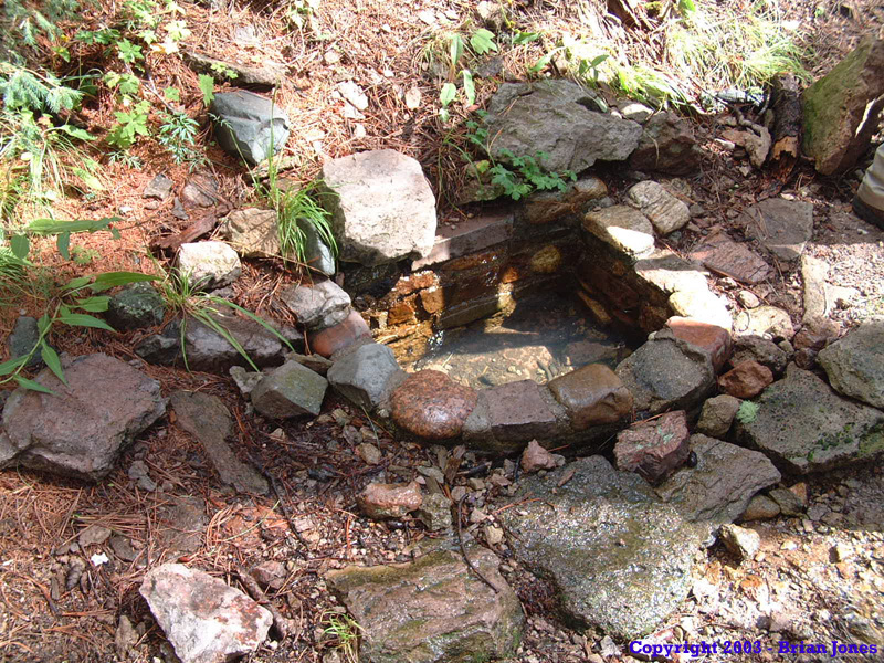
[[[297,361],[270,371],[252,390],[255,410],[271,419],[319,414],[328,381]]]

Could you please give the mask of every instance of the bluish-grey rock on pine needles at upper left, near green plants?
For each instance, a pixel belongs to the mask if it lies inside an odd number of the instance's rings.
[[[271,99],[251,92],[215,94],[210,114],[221,147],[251,166],[280,151],[288,139],[288,116]]]

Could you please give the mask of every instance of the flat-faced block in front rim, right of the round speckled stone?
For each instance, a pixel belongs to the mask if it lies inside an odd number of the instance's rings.
[[[533,380],[483,389],[492,435],[497,442],[527,442],[556,432],[556,415]]]

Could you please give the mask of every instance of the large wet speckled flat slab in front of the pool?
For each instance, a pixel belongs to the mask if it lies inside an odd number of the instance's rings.
[[[568,618],[629,640],[687,596],[701,533],[636,474],[580,459],[522,480],[507,502],[526,497],[499,517],[516,558],[555,585]]]

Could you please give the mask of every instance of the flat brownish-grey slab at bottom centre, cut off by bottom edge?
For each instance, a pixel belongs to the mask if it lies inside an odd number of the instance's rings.
[[[467,663],[515,652],[525,618],[497,557],[469,546],[438,549],[414,561],[329,571],[329,589],[362,628],[360,660],[373,663]]]

